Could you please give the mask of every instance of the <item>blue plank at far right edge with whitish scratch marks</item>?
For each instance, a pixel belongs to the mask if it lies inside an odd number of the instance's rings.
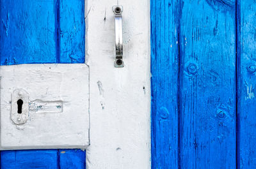
[[[239,120],[237,162],[239,168],[256,168],[256,3],[237,3],[237,113]]]

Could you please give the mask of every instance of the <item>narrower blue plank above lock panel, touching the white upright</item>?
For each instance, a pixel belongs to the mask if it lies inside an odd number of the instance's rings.
[[[84,62],[84,0],[60,1],[60,62]]]

